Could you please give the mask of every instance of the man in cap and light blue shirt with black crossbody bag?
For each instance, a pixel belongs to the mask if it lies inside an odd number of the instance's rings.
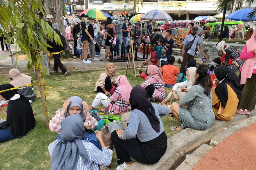
[[[188,60],[194,59],[196,49],[197,49],[198,52],[200,52],[199,44],[201,43],[201,41],[200,41],[200,37],[198,35],[196,35],[197,31],[198,31],[198,28],[193,27],[192,28],[192,33],[187,35],[186,38],[184,39],[184,41],[182,42],[181,55],[183,57],[183,61],[182,61],[181,66],[180,66],[180,72],[182,72],[182,70],[184,69],[184,67],[188,63]],[[185,50],[186,45],[190,41],[194,41],[194,43],[192,44],[192,46],[188,50]]]

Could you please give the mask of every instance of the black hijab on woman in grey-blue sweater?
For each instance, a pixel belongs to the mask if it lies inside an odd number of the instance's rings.
[[[146,90],[140,85],[136,85],[132,88],[130,103],[132,110],[137,109],[143,112],[148,117],[151,127],[156,130],[156,132],[160,132],[160,121],[155,115],[155,109],[148,100]]]

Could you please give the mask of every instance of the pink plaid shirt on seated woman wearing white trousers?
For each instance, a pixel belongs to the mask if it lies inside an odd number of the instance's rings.
[[[109,99],[112,101],[109,102],[106,111],[110,114],[124,113],[127,111],[128,107],[131,107],[130,104],[125,103],[125,101],[123,100],[118,90],[118,87]]]

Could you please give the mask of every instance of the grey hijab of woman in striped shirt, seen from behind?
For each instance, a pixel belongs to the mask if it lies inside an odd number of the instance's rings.
[[[51,167],[53,170],[73,170],[77,167],[79,155],[83,162],[88,154],[82,142],[84,121],[80,115],[71,115],[61,122],[60,140],[52,151]]]

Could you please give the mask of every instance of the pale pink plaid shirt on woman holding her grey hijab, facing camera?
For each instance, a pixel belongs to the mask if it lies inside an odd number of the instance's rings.
[[[61,115],[60,109],[57,110],[56,115],[52,117],[52,120],[50,120],[49,129],[60,134],[60,123],[64,119],[65,116]],[[92,129],[96,128],[98,125],[97,120],[94,117],[92,117],[92,115],[90,117],[86,117],[86,113],[84,113],[84,122],[87,123]],[[88,127],[86,128],[89,129]]]

